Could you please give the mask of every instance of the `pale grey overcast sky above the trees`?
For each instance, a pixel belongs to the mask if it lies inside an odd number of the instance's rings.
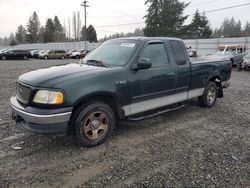
[[[228,6],[249,3],[249,0],[190,0],[185,14],[192,15],[196,9],[209,11]],[[147,7],[145,0],[89,0],[88,25],[92,24],[97,30],[98,38],[105,34],[115,32],[130,32],[136,27],[143,27],[144,24],[115,27],[112,25],[143,22],[143,16]],[[81,1],[62,1],[62,0],[0,0],[0,37],[9,36],[10,32],[15,32],[20,24],[26,25],[30,15],[36,11],[42,25],[49,17],[57,15],[63,24],[67,24],[68,17],[72,19],[73,11],[81,11],[82,22],[83,7]],[[212,27],[219,27],[225,17],[235,17],[240,19],[244,26],[246,20],[250,20],[250,5],[228,9],[218,12],[207,13]],[[187,20],[187,23],[191,17]],[[109,26],[112,27],[109,27]],[[100,27],[106,26],[106,27]]]

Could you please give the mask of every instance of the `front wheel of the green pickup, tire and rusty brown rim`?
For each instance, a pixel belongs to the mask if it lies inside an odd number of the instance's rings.
[[[116,118],[106,103],[93,101],[82,105],[75,113],[75,135],[80,146],[97,146],[112,135]]]

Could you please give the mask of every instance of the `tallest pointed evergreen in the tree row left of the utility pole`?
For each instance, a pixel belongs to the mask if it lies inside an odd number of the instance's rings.
[[[29,43],[38,42],[39,28],[40,28],[40,21],[38,19],[37,13],[33,12],[27,24],[27,41]]]

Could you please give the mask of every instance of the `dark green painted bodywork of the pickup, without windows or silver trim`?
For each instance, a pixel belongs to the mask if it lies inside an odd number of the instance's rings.
[[[191,64],[186,50],[184,50],[186,65],[177,66],[168,41],[181,41],[179,39],[133,38],[131,40],[137,40],[140,45],[123,67],[105,68],[69,64],[29,72],[22,75],[19,80],[36,88],[63,90],[66,95],[63,106],[74,106],[83,98],[100,94],[114,97],[120,106],[125,106],[138,100],[204,88],[212,77],[218,77],[223,82],[229,80],[231,76],[230,61],[204,60]],[[132,65],[138,62],[145,45],[155,41],[164,43],[168,64],[159,68],[133,70]]]

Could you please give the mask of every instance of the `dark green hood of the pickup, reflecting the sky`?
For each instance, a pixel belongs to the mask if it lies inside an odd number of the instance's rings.
[[[56,87],[68,79],[92,76],[111,69],[83,64],[67,64],[28,72],[21,75],[19,81],[37,87]]]

